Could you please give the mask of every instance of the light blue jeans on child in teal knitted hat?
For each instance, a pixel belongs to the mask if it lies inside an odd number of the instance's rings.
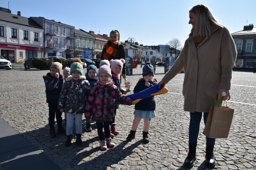
[[[82,134],[82,117],[83,114],[72,114],[67,113],[67,127],[66,127],[66,134],[72,134],[73,125],[75,123],[76,126],[76,134]]]

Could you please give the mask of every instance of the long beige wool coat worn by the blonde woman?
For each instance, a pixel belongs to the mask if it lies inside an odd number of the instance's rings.
[[[186,40],[181,54],[162,80],[168,83],[184,69],[184,110],[209,112],[220,88],[230,89],[236,55],[228,29],[212,27],[211,36],[204,37],[197,47],[191,37]]]

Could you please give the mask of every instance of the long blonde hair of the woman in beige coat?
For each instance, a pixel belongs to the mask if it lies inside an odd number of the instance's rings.
[[[196,23],[194,28],[191,30],[189,36],[211,36],[211,25],[218,28],[223,28],[223,25],[219,24],[212,15],[210,9],[203,4],[198,4],[191,8],[189,12],[196,14]]]

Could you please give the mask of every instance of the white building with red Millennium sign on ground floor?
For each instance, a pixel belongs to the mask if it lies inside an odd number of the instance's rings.
[[[31,18],[11,14],[0,8],[0,51],[12,63],[24,63],[31,57],[41,57],[44,29]]]

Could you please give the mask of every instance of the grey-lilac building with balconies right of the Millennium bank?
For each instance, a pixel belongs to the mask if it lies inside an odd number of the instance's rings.
[[[74,56],[74,26],[67,25],[44,17],[30,17],[44,28],[44,57]]]

